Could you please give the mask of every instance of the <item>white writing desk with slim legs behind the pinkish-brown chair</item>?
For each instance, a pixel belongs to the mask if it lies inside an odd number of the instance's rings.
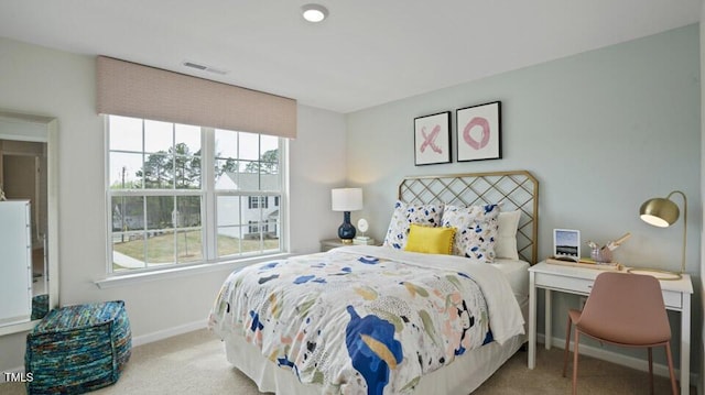
[[[529,369],[536,364],[536,288],[545,290],[545,348],[551,349],[551,292],[589,295],[595,277],[603,271],[538,263],[529,268]],[[681,394],[690,394],[691,372],[691,276],[659,281],[668,310],[681,311]],[[566,312],[567,314],[567,312]]]

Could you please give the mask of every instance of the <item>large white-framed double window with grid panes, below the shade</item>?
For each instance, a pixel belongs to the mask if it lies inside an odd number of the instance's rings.
[[[282,251],[284,139],[117,116],[106,125],[109,273]]]

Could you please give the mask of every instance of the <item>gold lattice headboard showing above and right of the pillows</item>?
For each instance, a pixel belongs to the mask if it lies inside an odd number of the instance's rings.
[[[399,184],[399,199],[423,205],[501,204],[502,211],[521,210],[517,230],[519,257],[536,263],[539,180],[528,171],[405,177]]]

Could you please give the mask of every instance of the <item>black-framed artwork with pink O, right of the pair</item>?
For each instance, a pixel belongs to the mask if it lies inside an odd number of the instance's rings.
[[[494,101],[456,110],[458,162],[502,157],[500,105]]]

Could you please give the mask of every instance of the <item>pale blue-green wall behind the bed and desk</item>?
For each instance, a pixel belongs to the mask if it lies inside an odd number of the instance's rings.
[[[495,100],[502,106],[503,158],[414,166],[415,117],[451,110],[455,134],[456,109]],[[584,241],[599,243],[629,231],[617,261],[675,270],[682,220],[657,229],[637,213],[646,199],[680,189],[690,204],[687,272],[698,288],[698,25],[350,113],[347,128],[348,179],[365,188],[365,210],[354,217],[366,217],[376,238],[384,235],[405,175],[523,168],[540,180],[540,256],[551,254],[554,228],[579,229]],[[455,146],[454,135],[454,161]],[[699,290],[693,300],[693,343],[699,344]],[[555,303],[554,333],[563,336],[564,308],[573,303]],[[680,332],[677,321],[672,328]]]

